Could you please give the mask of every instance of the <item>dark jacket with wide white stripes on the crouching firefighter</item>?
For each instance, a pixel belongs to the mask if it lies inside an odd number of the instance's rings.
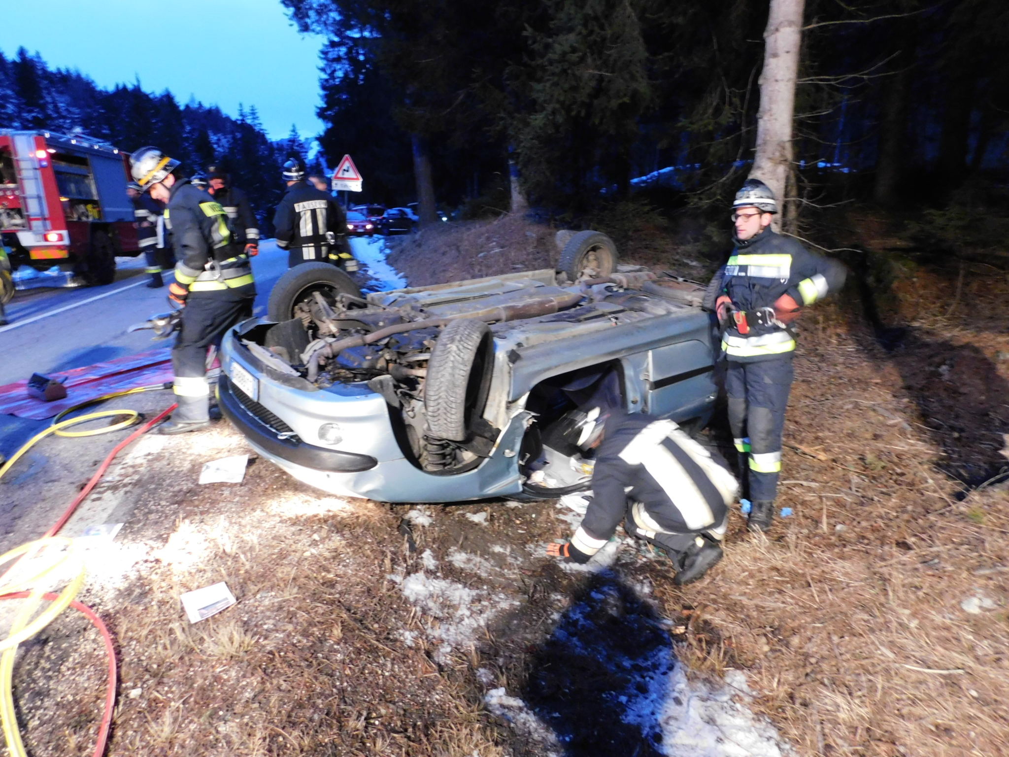
[[[717,529],[738,491],[728,469],[673,421],[611,416],[596,452],[594,497],[571,538],[572,557],[583,562],[599,551],[629,505],[636,521],[656,533]]]

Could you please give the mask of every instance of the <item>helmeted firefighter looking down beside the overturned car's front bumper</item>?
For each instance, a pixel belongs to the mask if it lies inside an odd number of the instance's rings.
[[[156,147],[141,147],[130,155],[130,171],[141,192],[167,204],[165,226],[178,259],[169,298],[184,308],[172,348],[179,408],[158,431],[196,431],[210,424],[207,348],[252,314],[252,266],[231,238],[224,209],[182,176],[179,160]]]

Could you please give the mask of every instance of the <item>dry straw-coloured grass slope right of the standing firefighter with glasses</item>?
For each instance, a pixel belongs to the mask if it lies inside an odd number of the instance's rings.
[[[660,590],[692,609],[688,664],[746,668],[802,754],[1006,753],[1009,489],[962,480],[1005,464],[991,385],[1009,380],[1009,287],[967,277],[978,317],[951,320],[948,282],[924,307],[941,283],[895,283],[888,323],[910,331],[890,353],[863,327],[806,324],[779,498],[795,515],[770,538],[739,519],[709,580]]]

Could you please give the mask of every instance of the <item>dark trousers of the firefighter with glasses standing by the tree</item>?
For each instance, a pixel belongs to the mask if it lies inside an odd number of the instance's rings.
[[[781,432],[793,375],[791,353],[759,362],[730,360],[725,368],[728,426],[744,496],[754,502],[774,502],[778,492]]]

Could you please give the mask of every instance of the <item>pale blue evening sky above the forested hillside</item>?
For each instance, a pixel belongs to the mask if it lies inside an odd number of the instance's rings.
[[[228,115],[255,105],[271,139],[297,124],[323,129],[319,36],[305,36],[279,0],[3,0],[0,50],[21,45],[50,68],[77,69],[100,87],[132,83],[190,96]]]

